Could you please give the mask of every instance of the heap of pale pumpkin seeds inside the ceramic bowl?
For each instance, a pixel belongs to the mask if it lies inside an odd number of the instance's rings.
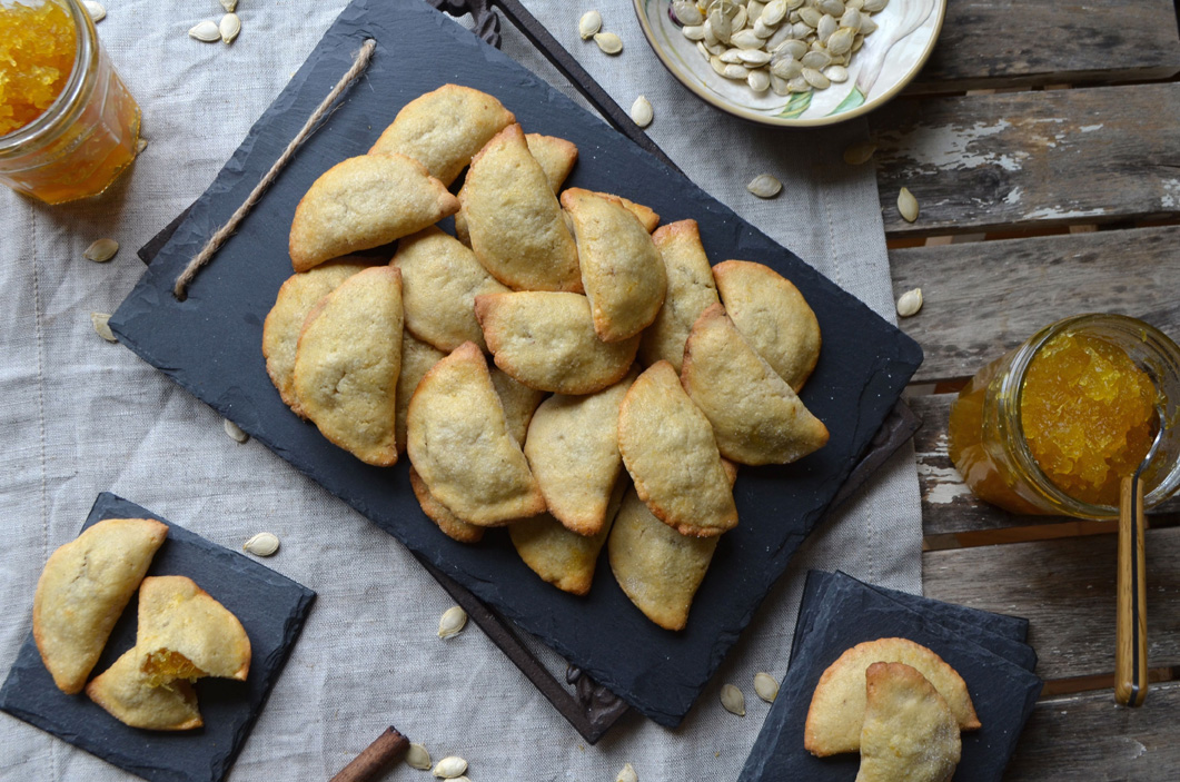
[[[675,0],[684,38],[720,75],[778,96],[847,81],[889,0]]]

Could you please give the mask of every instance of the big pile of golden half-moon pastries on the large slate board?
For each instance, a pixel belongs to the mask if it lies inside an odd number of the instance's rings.
[[[576,594],[607,545],[632,603],[678,630],[738,524],[736,465],[827,442],[798,396],[819,323],[768,267],[710,267],[694,221],[563,190],[577,156],[470,87],[411,101],[300,202],[263,354],[333,443],[408,454],[445,534],[506,526]],[[452,216],[455,236],[435,225]],[[388,263],[352,255],[395,239]]]

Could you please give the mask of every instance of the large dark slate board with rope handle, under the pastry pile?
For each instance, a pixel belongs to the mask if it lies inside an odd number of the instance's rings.
[[[242,203],[366,38],[378,41],[366,74],[201,272],[188,300],[176,301],[177,274]],[[503,531],[477,546],[450,540],[418,508],[405,464],[369,467],[332,446],[282,405],[267,377],[262,321],[291,274],[287,234],[295,204],[324,170],[363,153],[401,106],[445,83],[490,92],[526,131],[577,144],[569,186],[616,192],[651,206],[663,222],[695,218],[710,258],[771,265],[795,283],[819,317],[824,351],[802,399],[828,423],[831,441],[795,465],[742,471],[735,489],[741,523],[721,540],[683,632],[648,622],[605,563],[590,594],[578,598],[542,583]],[[414,0],[355,0],[345,9],[194,204],[111,327],[145,361],[666,725],[687,714],[922,361],[917,343],[683,175]]]

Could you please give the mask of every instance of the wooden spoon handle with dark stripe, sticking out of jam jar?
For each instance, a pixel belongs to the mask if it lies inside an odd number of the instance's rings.
[[[1125,707],[1147,698],[1147,580],[1143,564],[1142,484],[1122,479],[1119,500],[1119,604],[1114,698]]]

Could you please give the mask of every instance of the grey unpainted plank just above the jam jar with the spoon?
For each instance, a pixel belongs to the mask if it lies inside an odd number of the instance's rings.
[[[923,293],[922,311],[898,323],[925,351],[913,382],[970,377],[1079,313],[1132,315],[1180,339],[1176,225],[907,248],[889,259],[897,296]]]

